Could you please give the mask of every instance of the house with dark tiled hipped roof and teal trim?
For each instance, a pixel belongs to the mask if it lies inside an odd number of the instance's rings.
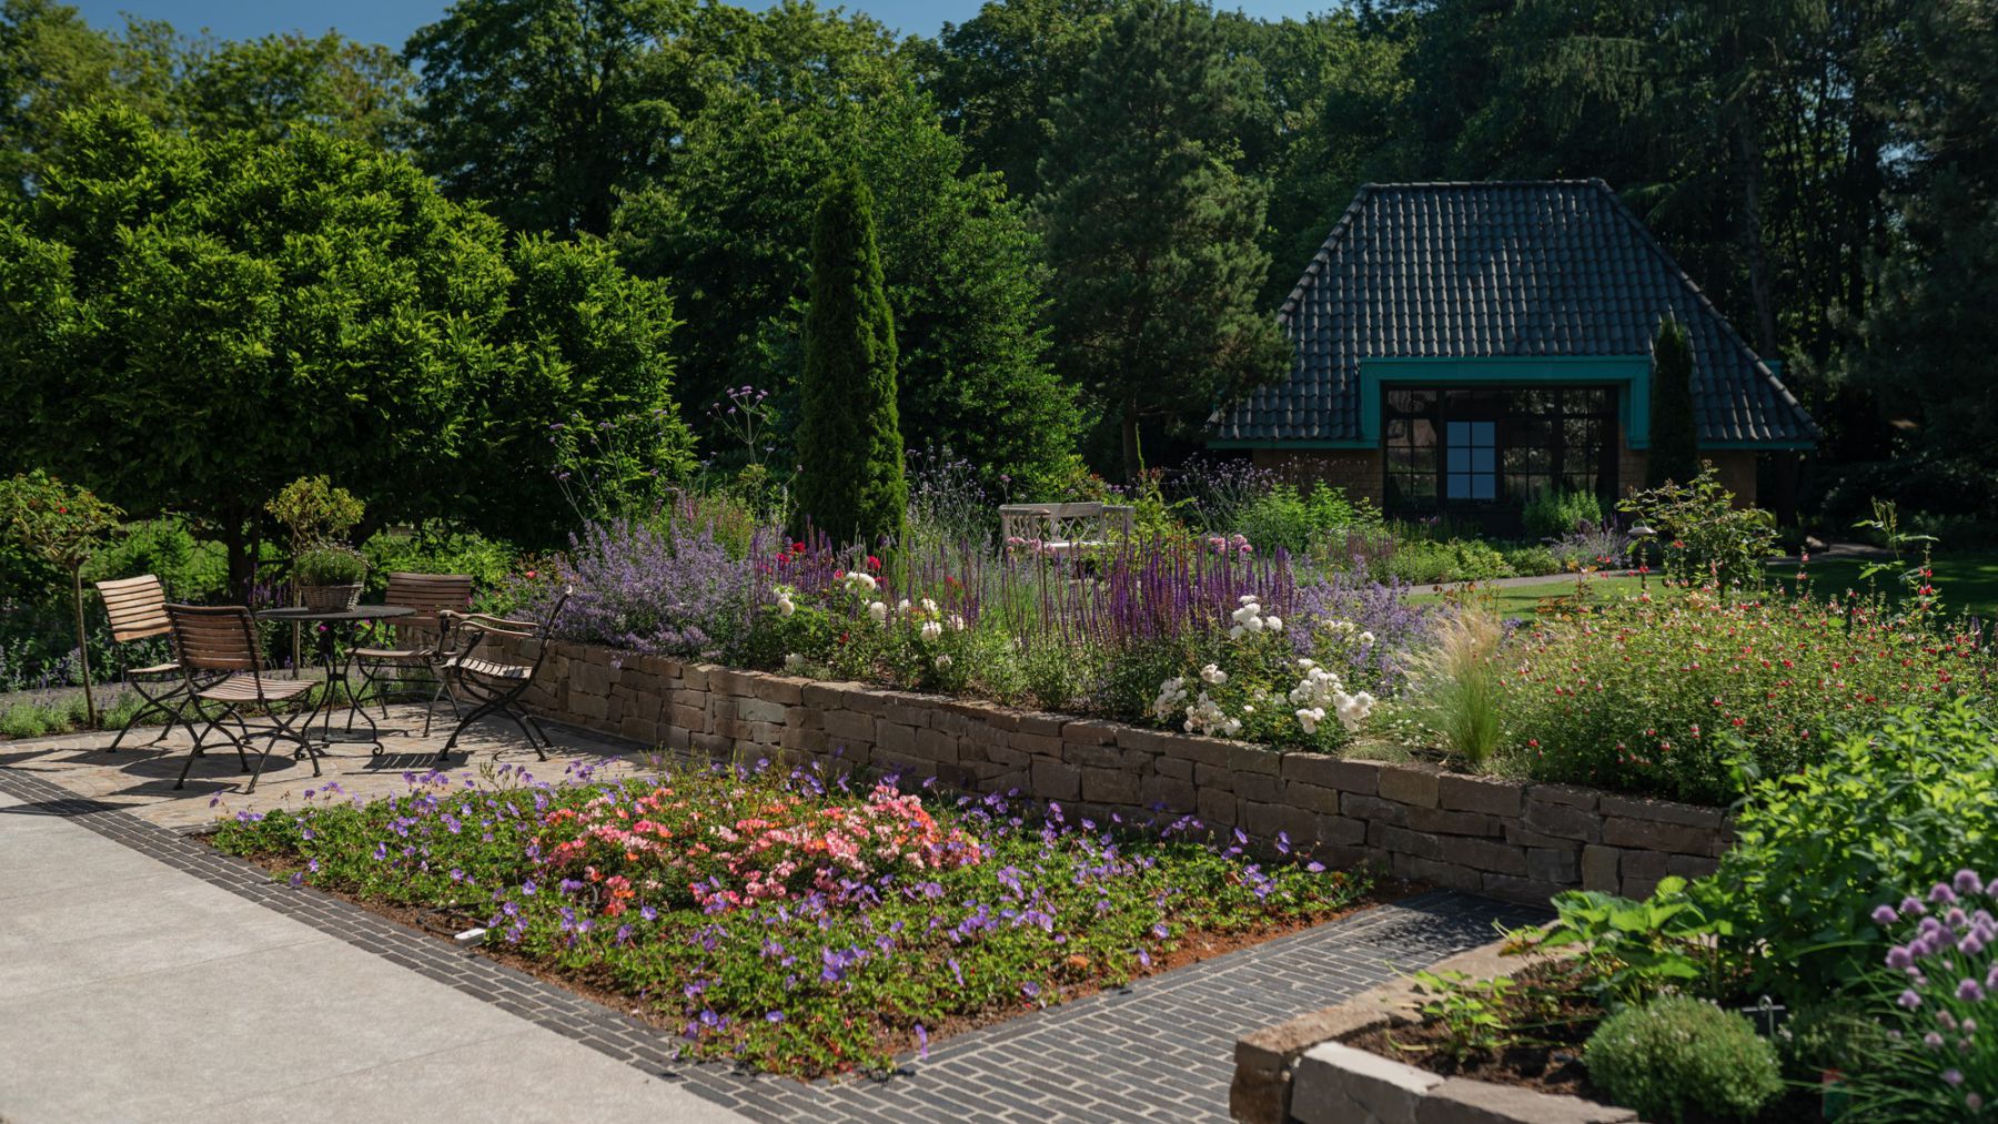
[[[1664,315],[1700,455],[1752,501],[1756,455],[1818,427],[1602,180],[1367,184],[1279,313],[1289,379],[1217,409],[1209,445],[1506,531],[1540,489],[1644,485]]]

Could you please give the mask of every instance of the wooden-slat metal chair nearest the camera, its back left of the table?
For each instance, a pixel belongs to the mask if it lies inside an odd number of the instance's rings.
[[[294,709],[292,715],[284,715],[274,705],[292,699],[304,701],[320,683],[312,679],[268,679],[264,675],[264,645],[256,639],[256,619],[242,605],[168,605],[166,615],[174,627],[174,649],[180,653],[188,693],[196,701],[220,703],[222,707],[216,717],[208,719],[202,733],[194,737],[194,751],[188,755],[188,763],[180,767],[180,779],[174,781],[174,787],[180,789],[188,783],[194,759],[202,755],[202,743],[214,731],[222,731],[222,737],[230,739],[230,745],[236,747],[236,759],[246,769],[250,763],[244,757],[244,743],[264,739],[264,755],[256,759],[256,771],[250,775],[250,787],[244,793],[256,793],[258,777],[264,775],[264,761],[270,759],[270,751],[280,741],[296,743],[300,753],[312,759],[312,775],[318,777],[320,751],[292,729],[300,717],[312,717],[312,707]],[[250,729],[242,713],[246,705],[264,711],[268,725],[262,731]],[[222,725],[224,719],[234,721],[242,737],[230,733]]]

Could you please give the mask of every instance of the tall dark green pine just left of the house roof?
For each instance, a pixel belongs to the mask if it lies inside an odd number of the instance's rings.
[[[1121,14],[1057,106],[1039,200],[1053,268],[1057,369],[1119,419],[1187,429],[1275,377],[1289,345],[1257,307],[1267,188],[1235,168],[1253,88],[1189,0]]]

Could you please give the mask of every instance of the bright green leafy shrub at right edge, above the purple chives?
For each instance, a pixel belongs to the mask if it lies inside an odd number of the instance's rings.
[[[1760,986],[1822,996],[1880,962],[1882,900],[1964,866],[1998,870],[1992,823],[1998,727],[1966,699],[1896,709],[1798,773],[1762,771],[1700,888],[1754,950]]]

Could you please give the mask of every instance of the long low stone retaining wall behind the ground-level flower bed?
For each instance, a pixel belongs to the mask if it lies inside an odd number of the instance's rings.
[[[731,671],[555,643],[529,695],[541,713],[713,757],[831,759],[1019,789],[1079,815],[1195,815],[1327,862],[1512,900],[1570,888],[1646,896],[1712,872],[1732,843],[1720,809],[1572,785],[1461,777],[1017,711],[993,703]]]

